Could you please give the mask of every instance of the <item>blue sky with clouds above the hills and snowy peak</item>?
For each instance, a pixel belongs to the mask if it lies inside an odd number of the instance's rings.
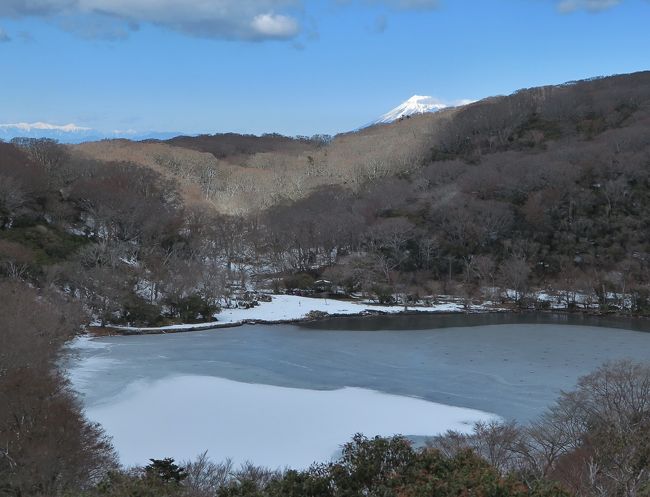
[[[650,0],[0,0],[0,124],[335,134],[650,69]]]

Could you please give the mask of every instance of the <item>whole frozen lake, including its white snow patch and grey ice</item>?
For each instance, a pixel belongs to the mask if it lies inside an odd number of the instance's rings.
[[[532,419],[607,360],[650,361],[650,333],[614,326],[641,325],[403,316],[110,337],[80,341],[70,376],[125,464],[208,450],[306,467],[355,432],[423,436],[494,415]]]

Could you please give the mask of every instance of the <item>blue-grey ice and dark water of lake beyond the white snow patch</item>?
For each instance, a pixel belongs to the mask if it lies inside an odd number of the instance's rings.
[[[177,374],[309,389],[344,386],[530,420],[606,361],[650,361],[639,320],[552,314],[330,319],[97,339],[73,379],[88,405]]]

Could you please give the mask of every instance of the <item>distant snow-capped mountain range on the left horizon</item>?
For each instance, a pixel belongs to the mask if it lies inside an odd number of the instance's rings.
[[[10,141],[13,138],[50,138],[61,143],[83,143],[105,139],[126,138],[133,141],[167,140],[180,132],[138,132],[134,130],[115,130],[102,132],[75,124],[56,125],[44,122],[0,124],[0,139]]]

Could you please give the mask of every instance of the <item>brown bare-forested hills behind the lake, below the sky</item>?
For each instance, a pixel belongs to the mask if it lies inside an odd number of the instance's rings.
[[[209,319],[256,288],[647,313],[649,127],[638,73],[333,139],[0,143],[2,272],[102,323]]]

